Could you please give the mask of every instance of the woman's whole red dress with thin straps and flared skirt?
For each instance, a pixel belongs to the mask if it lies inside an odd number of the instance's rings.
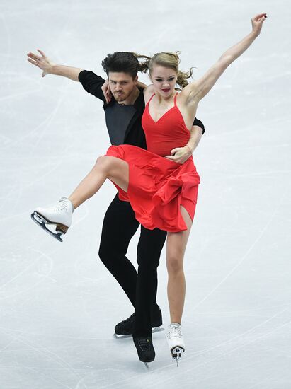
[[[152,95],[153,98],[154,95]],[[147,150],[129,144],[110,146],[108,156],[127,161],[129,184],[127,192],[118,185],[119,197],[129,201],[139,223],[150,230],[178,232],[187,229],[180,205],[185,207],[193,220],[200,177],[190,156],[181,163],[173,162],[166,155],[176,147],[188,143],[190,132],[176,105],[166,111],[157,122],[149,114],[149,99],[142,116],[142,127],[147,140]]]

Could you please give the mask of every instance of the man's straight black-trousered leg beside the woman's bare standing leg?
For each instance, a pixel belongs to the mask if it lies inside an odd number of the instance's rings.
[[[135,303],[135,336],[152,335],[152,325],[160,318],[156,303],[157,267],[166,240],[166,231],[147,230],[141,226],[137,246],[137,294]]]

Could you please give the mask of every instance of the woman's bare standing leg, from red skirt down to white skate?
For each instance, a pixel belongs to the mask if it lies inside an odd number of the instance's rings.
[[[166,266],[168,269],[168,301],[171,323],[181,324],[186,294],[186,282],[183,271],[183,258],[192,226],[192,220],[184,207],[181,214],[188,229],[168,233],[166,242]]]

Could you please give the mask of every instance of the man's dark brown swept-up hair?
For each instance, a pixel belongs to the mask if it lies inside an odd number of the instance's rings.
[[[130,74],[132,79],[137,76],[139,61],[132,52],[114,52],[108,54],[101,62],[104,71],[108,75],[110,71]]]

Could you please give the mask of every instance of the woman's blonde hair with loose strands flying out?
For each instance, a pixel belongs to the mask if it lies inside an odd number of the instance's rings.
[[[137,54],[135,52],[132,53],[137,59],[144,59],[143,62],[139,62],[139,71],[149,74],[152,73],[152,69],[154,65],[164,66],[166,68],[173,69],[177,74],[177,84],[178,86],[184,88],[188,85],[187,79],[189,79],[193,71],[191,68],[189,71],[181,71],[179,70],[180,52],[158,52],[154,54],[153,57],[147,57],[147,55]]]

